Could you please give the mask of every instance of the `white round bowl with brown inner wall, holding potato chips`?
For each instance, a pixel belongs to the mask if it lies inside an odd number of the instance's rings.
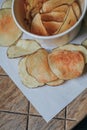
[[[78,2],[81,6],[82,14],[81,14],[81,17],[79,18],[79,20],[76,22],[76,24],[74,26],[72,26],[70,29],[68,29],[67,31],[65,31],[61,34],[56,34],[56,35],[52,35],[52,36],[38,36],[38,35],[28,32],[26,30],[26,24],[24,22],[24,18],[25,18],[24,0],[13,0],[12,15],[13,15],[13,18],[14,18],[17,26],[25,34],[27,34],[29,36],[29,38],[37,40],[44,48],[53,49],[57,46],[61,46],[63,44],[70,42],[78,34],[80,27],[81,27],[82,19],[86,12],[87,0],[78,0]]]

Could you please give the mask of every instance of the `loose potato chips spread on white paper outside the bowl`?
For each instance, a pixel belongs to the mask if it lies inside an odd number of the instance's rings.
[[[11,2],[6,0],[0,9],[0,46],[8,47],[8,58],[21,58],[18,71],[22,83],[28,88],[58,86],[81,76],[87,64],[87,40],[48,52],[35,40],[22,39],[11,14]]]

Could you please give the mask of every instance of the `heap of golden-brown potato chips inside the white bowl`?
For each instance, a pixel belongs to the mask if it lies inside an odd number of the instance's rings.
[[[25,0],[24,8],[29,31],[42,36],[68,30],[81,16],[76,0]]]

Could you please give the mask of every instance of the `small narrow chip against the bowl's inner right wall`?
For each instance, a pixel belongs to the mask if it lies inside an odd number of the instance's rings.
[[[77,2],[73,2],[72,8],[73,8],[73,11],[74,11],[77,19],[79,19],[81,16],[81,10],[80,10],[79,4]]]

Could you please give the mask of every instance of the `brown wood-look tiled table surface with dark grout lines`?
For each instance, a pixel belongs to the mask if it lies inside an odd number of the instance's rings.
[[[87,89],[48,124],[0,67],[0,130],[71,130],[87,116]]]

